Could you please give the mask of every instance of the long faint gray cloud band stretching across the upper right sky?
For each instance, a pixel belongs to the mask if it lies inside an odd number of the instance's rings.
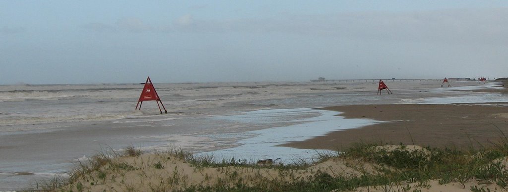
[[[506,8],[401,13],[359,12],[237,20],[198,20],[186,15],[179,21],[176,23],[188,24],[192,21],[192,27],[180,29],[198,33],[235,31],[446,43],[508,41],[504,38],[508,32],[505,25],[508,23]]]

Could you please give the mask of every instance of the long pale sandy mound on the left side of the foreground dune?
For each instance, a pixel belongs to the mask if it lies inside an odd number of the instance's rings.
[[[158,167],[155,165],[159,164]],[[213,186],[226,183],[263,185],[260,183],[304,179],[317,171],[329,175],[361,175],[374,172],[373,165],[356,159],[332,158],[306,169],[276,169],[274,167],[195,167],[171,154],[143,154],[112,159],[97,171],[81,175],[73,184],[62,189],[84,191],[173,191],[193,185]],[[79,184],[78,184],[79,183]],[[79,185],[79,186],[78,186]]]

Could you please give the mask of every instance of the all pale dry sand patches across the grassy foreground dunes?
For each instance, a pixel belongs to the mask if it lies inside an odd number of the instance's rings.
[[[379,146],[384,150],[424,150],[420,146]],[[499,161],[504,162],[506,159]],[[155,166],[160,164],[160,166]],[[333,157],[323,163],[306,169],[276,169],[273,167],[204,167],[199,168],[171,154],[143,154],[137,157],[117,157],[97,171],[81,175],[73,184],[60,189],[65,191],[178,191],[189,186],[234,186],[242,183],[247,186],[268,186],[269,183],[291,182],[308,179],[322,172],[331,176],[358,177],[367,174],[383,175],[379,167],[361,159]],[[411,190],[403,187],[410,186]],[[406,181],[383,186],[359,187],[355,191],[468,191],[471,186],[496,191],[496,184],[482,184],[476,180],[464,183],[451,182],[439,184],[438,180],[410,183]],[[213,189],[213,188],[212,188]],[[277,191],[284,191],[278,189]],[[336,190],[338,191],[338,190]]]

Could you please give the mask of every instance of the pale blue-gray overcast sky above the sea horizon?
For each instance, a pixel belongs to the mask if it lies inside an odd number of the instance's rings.
[[[0,0],[0,84],[493,79],[507,61],[508,1]]]

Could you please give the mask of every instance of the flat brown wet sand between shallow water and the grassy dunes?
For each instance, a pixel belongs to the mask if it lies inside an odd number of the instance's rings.
[[[475,91],[504,92],[508,89]],[[497,103],[499,104],[499,103]],[[405,144],[430,147],[479,148],[508,136],[508,107],[477,104],[356,105],[321,108],[343,112],[346,118],[387,121],[342,130],[281,146],[343,150],[355,143]]]

